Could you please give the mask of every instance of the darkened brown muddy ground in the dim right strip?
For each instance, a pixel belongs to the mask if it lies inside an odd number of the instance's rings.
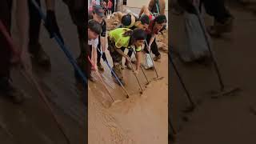
[[[194,101],[202,100],[193,113],[182,110],[190,103],[171,66],[170,110],[171,122],[178,132],[178,144],[254,143],[255,120],[250,106],[255,106],[255,34],[256,17],[253,6],[229,5],[234,15],[234,31],[222,38],[213,38],[213,50],[218,60],[226,88],[242,89],[238,93],[211,99],[209,91],[219,90],[218,78],[213,66],[185,65],[174,54],[174,62]],[[170,41],[174,51],[182,49],[184,23],[182,16],[172,15]],[[206,16],[209,26],[212,18]]]

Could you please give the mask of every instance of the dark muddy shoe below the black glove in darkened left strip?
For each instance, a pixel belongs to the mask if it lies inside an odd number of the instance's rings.
[[[29,46],[29,52],[40,66],[50,66],[50,57],[42,50],[40,43]]]

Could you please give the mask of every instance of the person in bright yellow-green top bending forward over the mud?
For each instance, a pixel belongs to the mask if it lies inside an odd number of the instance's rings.
[[[113,70],[118,76],[120,82],[125,85],[122,74],[122,58],[126,58],[126,62],[130,62],[130,57],[124,54],[124,50],[134,49],[136,51],[136,70],[134,74],[138,74],[141,63],[142,44],[146,38],[146,32],[142,29],[130,30],[127,28],[118,28],[110,31],[108,36],[108,50],[113,60]],[[113,74],[112,74],[113,75]],[[115,81],[118,83],[118,81]],[[119,83],[118,83],[119,84]]]

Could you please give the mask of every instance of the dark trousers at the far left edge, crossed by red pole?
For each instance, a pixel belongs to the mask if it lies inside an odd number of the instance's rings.
[[[1,0],[0,2],[0,18],[3,25],[10,34],[11,26],[11,8],[12,0]],[[0,78],[10,77],[10,44],[6,41],[6,37],[0,32]]]

